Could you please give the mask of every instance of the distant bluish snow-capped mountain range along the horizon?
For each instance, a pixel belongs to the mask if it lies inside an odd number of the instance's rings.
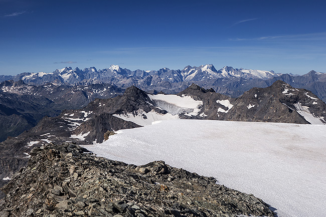
[[[162,68],[158,71],[122,69],[112,65],[107,69],[95,67],[72,69],[66,67],[52,73],[22,73],[16,76],[0,76],[0,82],[6,80],[23,80],[30,85],[90,85],[111,84],[118,88],[135,86],[149,93],[165,92],[176,94],[195,83],[203,88],[213,88],[216,92],[238,97],[253,87],[268,87],[277,80],[286,82],[295,88],[310,90],[321,100],[326,101],[326,73],[310,71],[298,76],[276,74],[273,71],[234,69],[225,66],[216,70],[213,65],[199,67],[186,66],[183,70]]]

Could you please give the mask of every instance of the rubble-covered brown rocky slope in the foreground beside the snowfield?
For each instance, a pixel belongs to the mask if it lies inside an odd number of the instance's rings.
[[[72,143],[35,147],[2,190],[0,216],[273,216],[261,199],[154,161],[96,157]]]

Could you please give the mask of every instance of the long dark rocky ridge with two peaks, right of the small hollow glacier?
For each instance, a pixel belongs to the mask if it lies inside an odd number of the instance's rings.
[[[276,81],[267,88],[252,88],[238,98],[192,85],[179,96],[202,100],[196,119],[325,124],[326,104],[305,89]]]

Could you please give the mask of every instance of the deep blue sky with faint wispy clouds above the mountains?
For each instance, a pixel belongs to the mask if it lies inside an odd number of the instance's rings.
[[[324,1],[0,0],[0,74],[213,64],[326,72]]]

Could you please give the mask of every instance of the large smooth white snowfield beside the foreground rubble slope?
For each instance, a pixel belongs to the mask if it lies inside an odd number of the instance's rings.
[[[171,166],[253,193],[281,217],[326,216],[326,125],[167,120],[120,130],[98,156]]]

